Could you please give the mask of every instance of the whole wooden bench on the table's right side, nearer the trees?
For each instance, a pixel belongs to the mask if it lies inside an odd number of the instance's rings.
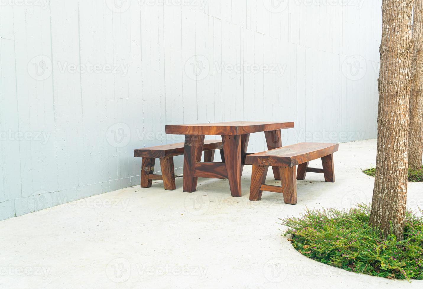
[[[305,174],[323,173],[324,180],[335,182],[333,169],[333,153],[338,151],[338,144],[334,143],[297,143],[278,149],[263,151],[257,154],[247,155],[246,165],[253,165],[251,176],[250,200],[261,199],[263,191],[283,193],[286,204],[297,203],[297,180],[304,180]],[[322,169],[308,167],[308,162],[321,158]],[[281,186],[264,184],[267,170],[270,166],[279,167]],[[296,173],[298,165],[298,173]]]

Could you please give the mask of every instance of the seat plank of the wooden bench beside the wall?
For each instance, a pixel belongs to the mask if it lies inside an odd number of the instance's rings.
[[[184,154],[185,143],[171,143],[163,146],[153,146],[150,148],[134,150],[134,157],[174,157]],[[203,151],[222,149],[221,140],[205,140]]]

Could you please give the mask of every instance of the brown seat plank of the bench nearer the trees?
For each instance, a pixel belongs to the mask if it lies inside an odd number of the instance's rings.
[[[293,167],[319,159],[338,151],[338,143],[297,143],[291,146],[247,155],[247,165],[271,165]]]

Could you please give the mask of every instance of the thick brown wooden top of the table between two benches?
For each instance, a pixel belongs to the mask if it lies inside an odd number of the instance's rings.
[[[167,125],[166,133],[171,135],[245,135],[293,127],[294,122],[216,122]]]

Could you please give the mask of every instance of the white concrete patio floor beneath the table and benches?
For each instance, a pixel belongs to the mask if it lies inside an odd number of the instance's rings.
[[[165,191],[161,181],[0,221],[0,288],[422,288],[323,265],[281,236],[279,218],[303,209],[370,202],[376,140],[340,144],[334,184],[321,174],[297,181],[297,205],[264,192],[248,199],[228,181],[200,178],[197,191]],[[320,167],[321,163],[310,164]],[[269,170],[267,184],[275,184]],[[409,183],[408,206],[423,207],[423,184]]]

